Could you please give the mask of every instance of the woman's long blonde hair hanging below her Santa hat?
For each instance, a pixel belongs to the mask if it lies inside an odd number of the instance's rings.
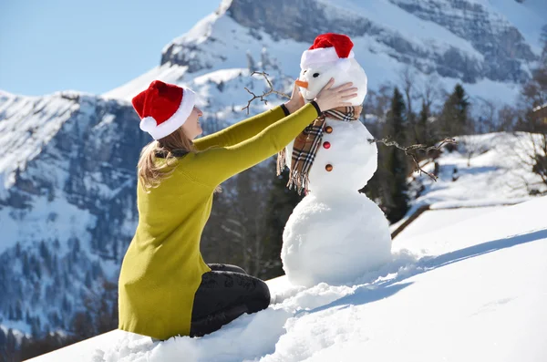
[[[150,189],[160,186],[161,181],[170,177],[175,171],[172,167],[177,163],[177,157],[181,157],[186,153],[197,153],[193,142],[186,137],[184,130],[179,128],[160,140],[153,140],[146,145],[140,152],[137,171],[139,181],[145,191],[150,192]],[[161,159],[165,162],[156,162],[160,154]],[[222,189],[218,186],[215,192],[220,192]]]

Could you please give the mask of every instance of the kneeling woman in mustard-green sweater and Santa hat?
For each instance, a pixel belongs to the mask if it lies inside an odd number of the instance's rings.
[[[155,80],[133,98],[140,128],[155,141],[139,159],[139,224],[119,275],[119,329],[161,340],[203,336],[270,304],[260,279],[203,262],[200,239],[212,194],[282,150],[321,109],[349,105],[356,88],[333,84],[305,106],[294,85],[283,106],[199,140],[202,113],[190,89]]]

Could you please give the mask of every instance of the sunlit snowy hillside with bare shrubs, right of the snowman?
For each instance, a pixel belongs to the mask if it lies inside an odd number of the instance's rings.
[[[451,222],[531,200],[531,194],[547,191],[547,185],[532,172],[529,163],[533,155],[532,140],[539,145],[539,135],[499,132],[456,140],[458,149],[449,152],[445,148],[436,160],[439,164],[437,181],[413,173],[410,209],[403,219],[390,225],[390,229],[396,231],[426,205],[429,211],[419,214],[396,238],[439,229]],[[435,165],[428,161],[422,167],[433,172]]]

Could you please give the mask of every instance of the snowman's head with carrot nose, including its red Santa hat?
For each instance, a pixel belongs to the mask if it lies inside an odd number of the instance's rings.
[[[353,106],[363,103],[366,96],[366,74],[357,63],[353,43],[348,36],[327,33],[317,36],[314,45],[304,51],[300,61],[300,75],[296,84],[306,102],[311,102],[330,78],[335,78],[333,87],[353,82],[357,96],[348,99]]]

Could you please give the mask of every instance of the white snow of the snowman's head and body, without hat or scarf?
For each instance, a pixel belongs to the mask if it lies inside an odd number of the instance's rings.
[[[333,87],[354,83],[357,97],[350,101],[361,105],[366,95],[365,71],[355,59],[347,60],[350,67],[342,70],[329,64],[304,67],[299,78],[306,80],[307,87],[301,88],[304,98],[315,98],[334,77]],[[322,75],[324,79],[317,79]],[[347,284],[391,260],[386,216],[358,192],[377,171],[377,145],[368,141],[372,138],[359,120],[325,119],[321,147],[308,175],[308,192],[284,228],[281,258],[292,284]],[[293,142],[285,154],[292,151]],[[290,163],[288,156],[289,167]]]

